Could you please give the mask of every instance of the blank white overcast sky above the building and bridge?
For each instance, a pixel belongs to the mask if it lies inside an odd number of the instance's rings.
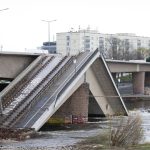
[[[0,0],[0,45],[23,51],[48,40],[57,32],[90,26],[101,33],[136,33],[150,37],[150,0]]]

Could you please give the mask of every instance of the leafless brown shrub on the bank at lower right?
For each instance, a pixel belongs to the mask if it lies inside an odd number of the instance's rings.
[[[111,145],[128,147],[136,145],[143,137],[140,116],[122,118],[119,125],[111,131]]]

